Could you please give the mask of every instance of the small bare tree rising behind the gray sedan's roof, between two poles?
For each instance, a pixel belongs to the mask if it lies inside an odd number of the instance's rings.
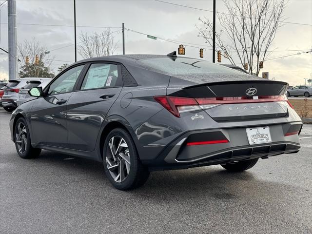
[[[113,33],[110,28],[100,34],[81,33],[79,36],[81,44],[78,45],[78,53],[84,59],[113,55],[118,48]]]

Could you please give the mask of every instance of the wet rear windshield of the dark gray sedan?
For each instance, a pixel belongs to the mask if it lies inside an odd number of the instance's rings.
[[[190,58],[151,58],[137,61],[143,66],[169,75],[189,74],[241,74],[232,68],[217,65],[205,60]]]

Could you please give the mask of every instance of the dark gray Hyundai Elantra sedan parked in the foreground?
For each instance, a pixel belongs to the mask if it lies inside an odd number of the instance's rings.
[[[94,159],[126,190],[152,171],[241,172],[297,153],[302,122],[287,88],[176,53],[85,59],[32,88],[37,98],[18,106],[10,129],[20,157],[44,149]]]

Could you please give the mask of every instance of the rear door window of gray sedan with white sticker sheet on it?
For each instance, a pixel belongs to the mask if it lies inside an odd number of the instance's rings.
[[[119,65],[109,63],[91,64],[80,89],[111,88],[122,86]]]

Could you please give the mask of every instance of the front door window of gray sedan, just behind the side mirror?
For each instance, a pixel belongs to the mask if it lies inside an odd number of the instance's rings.
[[[75,83],[84,65],[74,67],[59,76],[49,87],[48,94],[61,94],[74,90]]]

